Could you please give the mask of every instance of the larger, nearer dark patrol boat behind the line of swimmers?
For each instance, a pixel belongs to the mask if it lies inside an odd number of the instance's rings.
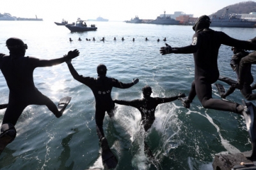
[[[83,32],[83,31],[96,31],[97,27],[95,27],[94,24],[92,24],[90,27],[86,25],[86,22],[84,20],[81,20],[80,18],[77,19],[75,25],[65,25],[71,32]]]

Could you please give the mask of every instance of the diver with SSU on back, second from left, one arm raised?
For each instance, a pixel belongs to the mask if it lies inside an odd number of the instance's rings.
[[[88,86],[92,89],[93,95],[95,97],[95,121],[96,121],[96,130],[97,135],[99,137],[100,146],[102,150],[108,149],[108,141],[103,132],[103,120],[105,117],[105,113],[107,112],[109,117],[113,116],[113,111],[115,107],[115,103],[111,98],[111,91],[112,88],[131,88],[139,82],[139,79],[135,79],[130,83],[122,83],[114,78],[110,78],[106,76],[107,67],[105,65],[100,64],[97,66],[97,73],[98,77],[84,77],[83,75],[79,75],[74,66],[71,63],[71,60],[66,62],[70,73],[77,81],[83,83],[84,85]],[[108,159],[103,161],[108,161]]]

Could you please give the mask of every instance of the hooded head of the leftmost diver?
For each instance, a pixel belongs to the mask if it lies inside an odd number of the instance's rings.
[[[24,56],[26,49],[28,49],[28,45],[26,45],[26,43],[15,37],[6,40],[6,47],[10,50],[10,54],[15,56]]]

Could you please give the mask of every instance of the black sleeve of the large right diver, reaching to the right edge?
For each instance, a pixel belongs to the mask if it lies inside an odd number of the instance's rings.
[[[224,45],[228,45],[230,47],[237,47],[239,49],[245,50],[256,50],[256,43],[237,40],[235,38],[231,38],[230,36],[226,35],[223,32],[220,32],[221,43]]]

